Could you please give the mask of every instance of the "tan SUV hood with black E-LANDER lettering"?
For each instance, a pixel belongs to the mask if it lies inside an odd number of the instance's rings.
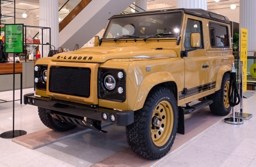
[[[87,47],[54,55],[52,61],[106,62],[110,59],[159,59],[177,57],[174,50],[145,47]]]

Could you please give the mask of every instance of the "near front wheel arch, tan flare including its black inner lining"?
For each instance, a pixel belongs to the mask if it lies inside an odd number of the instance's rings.
[[[167,89],[170,89],[177,100],[177,85],[172,74],[168,72],[154,73],[152,75],[148,75],[146,78],[144,78],[143,82],[141,82],[133,107],[134,111],[143,108],[148,94],[156,87],[166,87]]]

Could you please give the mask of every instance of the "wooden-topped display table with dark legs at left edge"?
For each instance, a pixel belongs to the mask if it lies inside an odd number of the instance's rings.
[[[20,74],[20,99],[16,99],[15,101],[20,100],[20,104],[22,104],[22,63],[15,63],[15,74]],[[0,64],[0,75],[12,75],[13,74],[13,62],[6,62]],[[14,84],[14,83],[13,83]],[[0,103],[6,103],[10,101],[6,101],[0,99]]]

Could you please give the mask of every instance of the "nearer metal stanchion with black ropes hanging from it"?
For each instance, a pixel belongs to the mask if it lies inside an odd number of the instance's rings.
[[[228,97],[230,106],[232,106],[232,115],[230,118],[225,118],[224,122],[228,124],[243,124],[243,119],[236,118],[235,105],[239,104],[239,101],[236,103],[237,98],[240,99],[238,91],[236,89],[236,68],[235,63],[233,62],[232,70],[230,71],[230,81],[229,81],[228,96],[232,96],[231,99]],[[236,96],[237,93],[237,96]]]

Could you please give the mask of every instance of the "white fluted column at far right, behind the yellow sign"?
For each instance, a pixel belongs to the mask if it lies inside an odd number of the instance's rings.
[[[248,39],[247,39],[247,56],[253,56],[256,52],[256,19],[253,18],[256,15],[256,1],[246,0],[240,1],[239,13],[240,13],[240,23],[239,27],[248,29]],[[247,71],[250,72],[250,67],[252,66],[254,60],[247,60]]]

